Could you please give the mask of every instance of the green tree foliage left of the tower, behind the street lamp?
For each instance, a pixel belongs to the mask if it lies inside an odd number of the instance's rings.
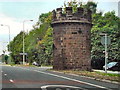
[[[49,61],[52,57],[51,17],[51,12],[41,14],[38,22],[33,26],[34,29],[28,34],[25,33],[25,52],[27,53],[27,56],[25,57],[26,62],[32,63],[33,61],[37,61],[38,63],[44,64],[45,61],[47,61],[51,64]],[[23,32],[20,32],[13,39],[10,46],[13,60],[15,62],[22,62],[22,56],[20,53],[23,52]]]

